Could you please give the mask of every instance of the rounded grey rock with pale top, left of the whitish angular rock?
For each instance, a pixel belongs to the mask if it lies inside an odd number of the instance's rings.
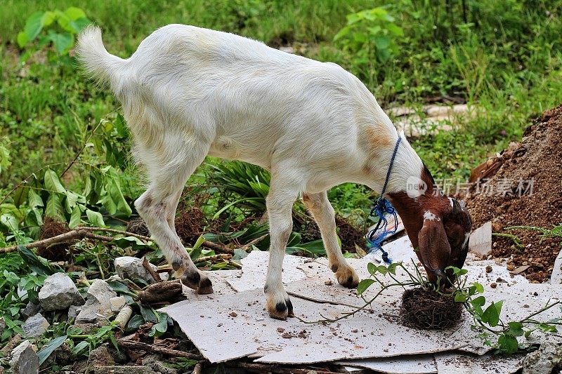
[[[45,279],[39,290],[39,302],[46,311],[67,309],[70,305],[84,304],[84,298],[78,292],[70,276],[55,273]]]

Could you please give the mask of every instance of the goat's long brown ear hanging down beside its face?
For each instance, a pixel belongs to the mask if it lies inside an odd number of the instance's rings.
[[[445,269],[451,255],[451,246],[447,241],[443,222],[438,218],[424,220],[417,238],[419,258],[424,267],[431,272]]]

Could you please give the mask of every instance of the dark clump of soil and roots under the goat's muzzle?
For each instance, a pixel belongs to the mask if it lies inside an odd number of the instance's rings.
[[[421,287],[405,290],[402,295],[400,318],[404,326],[440,330],[455,326],[461,316],[462,302],[455,302],[452,295]]]

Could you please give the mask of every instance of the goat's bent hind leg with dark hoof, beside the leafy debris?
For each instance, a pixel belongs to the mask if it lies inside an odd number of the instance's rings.
[[[135,201],[135,206],[176,276],[185,286],[205,294],[213,293],[211,281],[195,267],[174,229],[176,207],[185,181],[207,154],[206,149],[198,151],[179,151],[172,160],[150,165],[150,185]],[[181,156],[181,153],[185,154]]]

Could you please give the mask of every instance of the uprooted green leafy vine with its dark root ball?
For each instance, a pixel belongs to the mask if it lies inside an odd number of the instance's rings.
[[[455,275],[455,281],[447,281],[448,284],[438,284],[428,281],[418,269],[417,265],[413,270],[409,269],[402,262],[393,262],[391,265],[374,265],[369,263],[367,269],[370,273],[369,278],[360,281],[357,287],[357,294],[365,301],[365,304],[353,309],[351,312],[344,313],[336,319],[328,319],[322,316],[320,321],[301,321],[305,323],[336,322],[346,319],[358,312],[370,308],[372,302],[388,288],[402,287],[404,294],[400,307],[400,320],[405,326],[441,329],[450,328],[459,322],[462,316],[462,308],[468,312],[473,323],[471,328],[479,330],[478,336],[483,338],[484,344],[494,347],[498,352],[513,354],[523,347],[517,338],[530,335],[540,330],[544,333],[557,333],[556,326],[562,325],[562,318],[540,321],[537,316],[543,312],[560,305],[562,311],[562,301],[551,302],[549,300],[544,307],[537,312],[525,316],[518,321],[504,321],[500,318],[504,301],[492,301],[485,307],[487,300],[484,295],[484,287],[481,283],[473,282],[467,284],[466,269],[457,267],[447,267]],[[404,272],[405,278],[397,276],[396,271],[400,269]],[[371,298],[365,298],[365,291],[372,285],[377,284],[380,289]],[[495,342],[492,341],[495,337]]]

